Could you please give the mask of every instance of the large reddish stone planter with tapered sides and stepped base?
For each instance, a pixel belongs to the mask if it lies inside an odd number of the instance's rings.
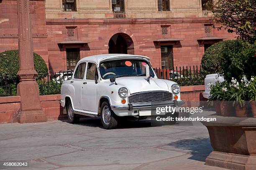
[[[231,170],[256,170],[256,118],[211,115],[202,122],[208,129],[213,151],[205,165]]]

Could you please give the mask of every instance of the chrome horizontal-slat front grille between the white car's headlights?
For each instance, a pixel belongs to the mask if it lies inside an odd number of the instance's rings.
[[[138,92],[128,97],[131,104],[151,104],[151,102],[170,102],[172,93],[166,91]]]

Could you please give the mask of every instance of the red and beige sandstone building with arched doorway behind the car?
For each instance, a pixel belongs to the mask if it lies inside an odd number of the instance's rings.
[[[212,29],[207,0],[30,0],[34,52],[50,72],[86,56],[146,55],[154,67],[200,65],[207,47],[235,35]],[[18,49],[17,1],[0,0],[0,52]]]

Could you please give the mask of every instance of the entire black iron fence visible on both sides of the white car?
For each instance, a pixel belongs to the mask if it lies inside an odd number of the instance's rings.
[[[205,69],[201,66],[182,66],[173,68],[154,68],[160,79],[172,80],[181,86],[204,85],[205,76],[215,73],[214,70]],[[72,70],[54,72],[44,79],[37,80],[40,95],[60,94],[62,82],[71,80]],[[16,85],[8,85],[0,80],[0,97],[16,95]]]

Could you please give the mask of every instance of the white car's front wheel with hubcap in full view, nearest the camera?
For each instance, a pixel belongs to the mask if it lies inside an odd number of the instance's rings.
[[[114,129],[118,125],[118,117],[111,110],[108,102],[103,102],[100,107],[100,118],[105,129]]]

